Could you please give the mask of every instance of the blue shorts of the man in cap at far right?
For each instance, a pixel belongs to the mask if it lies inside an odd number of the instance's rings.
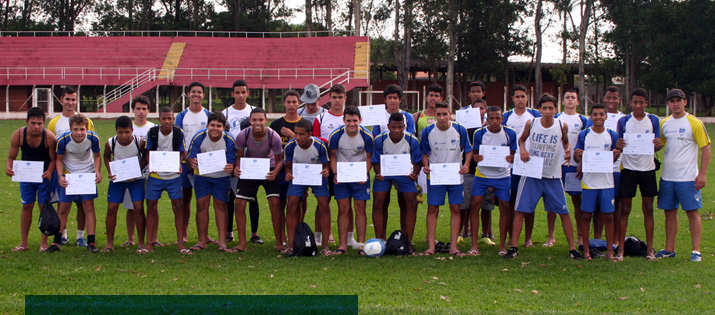
[[[673,210],[680,205],[683,210],[698,210],[703,207],[700,190],[695,189],[695,181],[671,182],[660,180],[658,192],[658,209]]]

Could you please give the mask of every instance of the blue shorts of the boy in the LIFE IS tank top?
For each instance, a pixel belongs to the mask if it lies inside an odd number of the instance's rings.
[[[516,194],[516,211],[534,213],[539,199],[544,197],[544,209],[556,214],[568,214],[566,195],[560,178],[522,177]]]

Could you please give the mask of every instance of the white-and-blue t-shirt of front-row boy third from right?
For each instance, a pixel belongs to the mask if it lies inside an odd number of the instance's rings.
[[[596,133],[592,128],[582,131],[585,136],[580,136],[578,147],[584,151],[611,151],[615,143],[609,129]],[[615,137],[615,135],[613,135]],[[583,139],[583,140],[581,140]],[[613,188],[613,174],[611,173],[583,173],[581,188],[606,189]]]

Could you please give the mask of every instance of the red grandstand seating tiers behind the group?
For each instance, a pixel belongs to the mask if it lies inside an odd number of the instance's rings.
[[[117,86],[146,69],[161,69],[171,44],[186,43],[173,78],[150,82],[140,90],[192,81],[231,87],[236,79],[246,80],[252,88],[302,88],[354,70],[355,43],[367,41],[367,37],[0,37],[0,84]],[[367,86],[367,79],[349,78],[347,89]],[[121,104],[113,103],[108,110],[121,110]]]

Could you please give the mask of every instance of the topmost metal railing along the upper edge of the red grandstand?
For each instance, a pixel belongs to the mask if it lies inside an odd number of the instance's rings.
[[[354,36],[355,30],[332,30],[310,32],[232,32],[232,31],[0,31],[0,37],[229,37],[229,38],[301,38]]]

